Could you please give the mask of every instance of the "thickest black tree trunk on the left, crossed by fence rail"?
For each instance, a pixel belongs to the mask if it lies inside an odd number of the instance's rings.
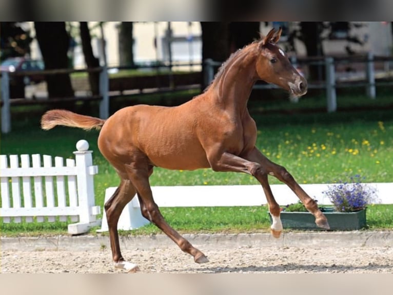
[[[68,68],[67,52],[70,38],[65,22],[34,22],[34,27],[45,68]],[[49,98],[74,96],[69,74],[47,75],[46,81]]]

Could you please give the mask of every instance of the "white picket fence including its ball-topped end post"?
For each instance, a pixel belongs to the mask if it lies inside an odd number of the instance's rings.
[[[1,199],[0,217],[4,223],[72,222],[70,234],[87,232],[100,225],[96,219],[100,206],[95,206],[93,175],[98,168],[92,164],[92,151],[86,140],[76,143],[75,159],[54,158],[39,154],[0,155]],[[32,163],[32,165],[30,165]],[[24,217],[24,220],[22,219]]]

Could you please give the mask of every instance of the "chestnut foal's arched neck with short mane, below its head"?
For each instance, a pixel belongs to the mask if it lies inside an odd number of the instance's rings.
[[[252,86],[258,80],[256,72],[257,48],[251,44],[235,53],[224,65],[223,72],[211,85],[214,100],[233,115],[243,115]]]

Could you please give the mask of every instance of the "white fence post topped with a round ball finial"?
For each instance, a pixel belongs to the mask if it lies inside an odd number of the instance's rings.
[[[82,139],[76,143],[77,152],[75,165],[77,169],[76,183],[78,194],[79,222],[68,225],[68,232],[79,234],[87,232],[91,226],[99,225],[101,220],[96,220],[100,207],[95,206],[93,175],[97,174],[97,166],[93,166],[92,151],[88,151],[89,143]]]

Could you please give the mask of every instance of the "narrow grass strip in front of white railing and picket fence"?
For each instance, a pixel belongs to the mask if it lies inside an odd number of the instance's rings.
[[[180,233],[251,233],[269,232],[270,220],[266,206],[250,207],[194,207],[161,208],[167,222]],[[369,230],[392,229],[393,205],[371,205],[367,208]],[[1,224],[2,235],[37,236],[67,234],[67,223]],[[98,228],[95,228],[98,229]],[[91,233],[95,232],[91,230]],[[290,229],[284,229],[289,231]],[[160,229],[148,224],[133,231],[119,231],[121,235],[160,234]],[[108,233],[105,233],[108,234]]]

